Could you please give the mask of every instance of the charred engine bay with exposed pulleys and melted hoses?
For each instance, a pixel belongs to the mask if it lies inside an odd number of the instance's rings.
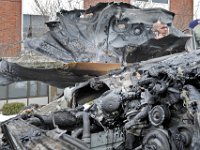
[[[4,146],[45,147],[41,139],[62,141],[63,136],[72,136],[85,144],[78,149],[92,149],[92,134],[115,130],[123,135],[120,145],[112,145],[116,150],[198,149],[199,55],[197,50],[152,59],[81,83],[65,94],[68,107],[49,114],[25,113],[4,122]],[[84,108],[85,103],[89,107]],[[28,138],[18,133],[17,124]],[[23,131],[27,128],[32,132]]]

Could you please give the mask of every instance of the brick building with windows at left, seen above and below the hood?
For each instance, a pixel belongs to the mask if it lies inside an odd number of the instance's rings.
[[[22,13],[22,0],[0,0],[0,57],[26,59],[27,47],[21,41],[28,36],[39,37],[47,31],[46,17]],[[28,58],[27,58],[28,59]],[[52,91],[52,89],[55,89]],[[24,81],[0,86],[0,109],[5,103],[26,105],[47,104],[55,98],[57,89],[38,81]]]

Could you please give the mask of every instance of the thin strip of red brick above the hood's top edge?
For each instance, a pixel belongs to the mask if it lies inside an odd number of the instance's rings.
[[[100,2],[124,2],[130,3],[130,0],[84,0],[84,9],[89,8],[90,6],[95,6]]]

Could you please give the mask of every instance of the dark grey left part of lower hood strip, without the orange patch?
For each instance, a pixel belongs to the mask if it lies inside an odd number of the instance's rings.
[[[73,69],[73,68],[71,68]],[[28,68],[6,60],[0,61],[0,85],[8,85],[17,81],[42,81],[59,88],[72,86],[77,82],[83,82],[94,75],[81,75],[67,69],[64,65],[59,68]]]

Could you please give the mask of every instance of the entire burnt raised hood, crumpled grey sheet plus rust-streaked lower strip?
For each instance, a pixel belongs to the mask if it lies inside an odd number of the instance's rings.
[[[164,9],[99,3],[87,10],[62,10],[57,17],[57,21],[47,22],[50,30],[46,34],[27,43],[48,57],[67,63],[61,67],[34,68],[2,60],[0,85],[38,80],[64,88],[104,75],[125,61],[133,63],[182,52],[188,39],[173,27],[174,14]],[[168,36],[159,40],[155,39],[152,30],[158,20],[170,31]]]

